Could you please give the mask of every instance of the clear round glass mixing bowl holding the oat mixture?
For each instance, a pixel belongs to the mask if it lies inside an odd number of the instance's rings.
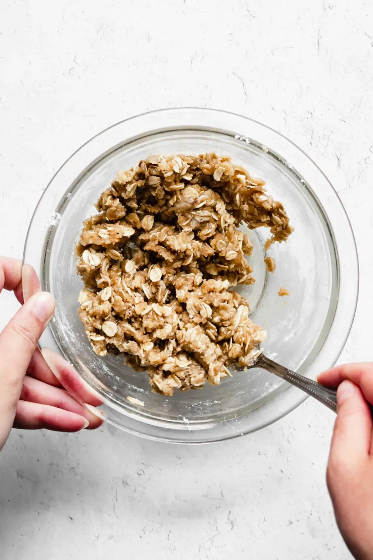
[[[82,287],[75,246],[83,221],[119,170],[150,154],[205,153],[232,156],[266,181],[284,203],[294,233],[268,251],[268,230],[249,231],[256,283],[240,288],[252,319],[268,333],[265,353],[315,379],[342,351],[355,314],[358,262],[341,200],[317,165],[292,142],[243,116],[206,109],[169,109],[125,120],[75,152],[50,181],[31,220],[24,260],[56,298],[53,320],[40,339],[74,365],[101,395],[108,422],[140,436],[171,442],[210,442],[243,435],[276,421],[305,394],[262,370],[236,372],[218,386],[166,398],[152,393],[147,374],[122,356],[92,351],[78,317]],[[280,287],[290,295],[279,297]],[[127,397],[141,400],[131,404]]]

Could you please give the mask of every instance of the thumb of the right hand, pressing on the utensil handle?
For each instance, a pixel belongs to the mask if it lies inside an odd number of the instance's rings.
[[[343,381],[337,390],[337,419],[334,424],[330,463],[354,468],[370,452],[372,419],[361,390]]]

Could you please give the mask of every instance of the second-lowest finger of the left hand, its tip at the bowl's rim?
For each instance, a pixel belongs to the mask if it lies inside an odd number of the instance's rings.
[[[92,430],[101,426],[103,419],[100,417],[99,412],[92,414],[89,410],[75,400],[71,395],[67,393],[64,389],[59,389],[58,387],[53,387],[43,381],[33,379],[32,377],[26,376],[23,380],[23,386],[21,391],[20,400],[26,400],[32,403],[48,404],[51,407],[61,408],[63,410],[68,410],[68,412],[74,412],[87,418],[89,422],[89,428]]]

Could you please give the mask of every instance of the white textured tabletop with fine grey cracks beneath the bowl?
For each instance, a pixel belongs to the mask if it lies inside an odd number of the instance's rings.
[[[2,0],[1,11],[2,254],[22,256],[49,179],[101,129],[168,106],[235,111],[295,141],[341,195],[361,260],[341,360],[371,358],[371,2]],[[15,309],[2,295],[0,326]],[[214,446],[106,427],[13,432],[0,456],[1,558],[351,558],[324,482],[332,423],[308,400]]]

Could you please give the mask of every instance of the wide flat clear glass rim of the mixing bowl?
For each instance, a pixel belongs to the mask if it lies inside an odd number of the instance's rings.
[[[356,312],[356,306],[357,306],[357,299],[358,299],[358,287],[359,287],[359,267],[358,267],[358,254],[357,254],[357,248],[356,248],[356,241],[355,241],[355,237],[353,235],[353,230],[351,227],[351,223],[350,220],[348,218],[348,214],[346,212],[346,209],[344,209],[343,204],[341,199],[339,198],[338,193],[336,192],[336,190],[333,188],[333,185],[330,183],[330,181],[328,180],[327,176],[324,174],[324,172],[320,169],[320,167],[315,164],[315,162],[298,146],[296,146],[296,144],[294,142],[292,142],[290,139],[286,138],[285,136],[283,136],[281,133],[277,132],[276,130],[268,127],[265,124],[259,123],[257,120],[248,118],[246,116],[243,115],[239,115],[236,113],[230,113],[229,111],[222,111],[222,110],[216,110],[216,109],[205,109],[205,108],[168,108],[168,109],[158,109],[155,111],[149,111],[147,113],[142,113],[139,115],[135,115],[135,116],[131,116],[128,119],[124,119],[121,120],[118,123],[112,124],[110,125],[110,127],[107,127],[106,129],[102,130],[101,132],[97,133],[95,136],[93,136],[91,139],[89,139],[87,142],[85,142],[84,144],[82,144],[81,147],[79,147],[77,150],[75,150],[75,152],[69,156],[69,158],[64,162],[64,164],[59,168],[58,171],[56,171],[56,173],[54,174],[53,178],[49,181],[49,184],[46,186],[39,202],[37,203],[37,206],[35,208],[34,213],[32,214],[31,217],[31,221],[30,221],[30,225],[27,231],[27,235],[26,235],[26,241],[25,241],[25,249],[23,251],[23,262],[29,262],[29,264],[32,264],[35,266],[36,270],[39,272],[43,272],[43,262],[41,262],[40,259],[40,255],[39,255],[39,259],[35,258],[35,262],[30,262],[29,260],[29,255],[30,255],[30,243],[32,241],[32,233],[33,233],[33,228],[35,226],[35,220],[36,217],[38,216],[39,213],[41,213],[41,217],[45,215],[49,215],[48,213],[45,214],[45,210],[43,208],[43,204],[46,200],[46,198],[49,196],[52,187],[56,181],[56,179],[63,174],[64,170],[67,169],[67,166],[69,166],[69,164],[71,162],[73,162],[76,158],[77,155],[81,154],[82,151],[84,151],[84,148],[87,147],[93,147],[94,149],[92,151],[96,150],[96,147],[94,146],[95,143],[97,143],[97,148],[102,149],[102,146],[98,146],[98,144],[100,144],[100,141],[103,137],[107,136],[107,138],[109,138],[111,132],[113,132],[115,129],[124,129],[121,130],[120,134],[121,134],[121,142],[125,143],[125,142],[129,142],[131,139],[133,139],[133,134],[129,134],[130,131],[135,132],[136,130],[141,130],[141,133],[139,134],[139,132],[137,134],[135,134],[136,137],[143,137],[145,135],[145,133],[150,134],[150,133],[155,133],[155,132],[159,132],[160,130],[171,130],[174,128],[174,126],[169,125],[167,126],[167,120],[169,120],[170,123],[172,123],[173,125],[175,125],[178,122],[178,128],[181,129],[185,129],[185,128],[196,128],[196,129],[214,129],[216,130],[216,124],[219,123],[221,125],[225,125],[225,126],[229,126],[229,123],[231,121],[235,121],[235,126],[237,128],[232,129],[225,129],[223,128],[223,132],[225,132],[226,134],[228,134],[228,130],[229,130],[229,135],[230,136],[234,136],[235,139],[237,139],[238,142],[245,142],[245,143],[251,143],[251,138],[256,138],[256,136],[253,136],[252,133],[248,134],[247,132],[249,132],[250,130],[254,130],[254,132],[256,130],[259,130],[260,132],[264,133],[264,136],[267,139],[270,139],[270,143],[266,142],[265,146],[270,146],[271,148],[271,154],[273,155],[273,153],[275,153],[276,155],[280,154],[280,161],[282,162],[282,164],[286,165],[287,167],[289,167],[289,169],[292,169],[292,164],[289,164],[288,162],[291,161],[295,161],[295,157],[294,160],[292,160],[292,153],[295,153],[295,155],[301,156],[301,158],[303,159],[303,164],[305,165],[308,164],[309,167],[313,167],[314,171],[317,171],[318,174],[320,175],[320,180],[323,180],[324,186],[327,186],[327,189],[329,189],[329,195],[332,197],[332,199],[334,199],[334,202],[337,203],[337,209],[338,209],[338,218],[339,220],[342,220],[342,222],[344,222],[343,224],[343,228],[344,228],[344,240],[343,240],[343,244],[342,242],[338,239],[337,235],[334,235],[334,242],[336,245],[336,249],[338,249],[337,251],[337,258],[338,258],[338,262],[339,262],[339,272],[341,273],[341,270],[343,272],[343,278],[342,278],[342,284],[341,284],[341,276],[339,277],[340,282],[339,282],[339,286],[338,286],[338,301],[337,301],[337,306],[336,306],[336,312],[334,314],[334,318],[332,320],[332,323],[330,325],[330,329],[329,332],[326,334],[324,343],[323,343],[323,347],[320,349],[320,353],[319,356],[315,359],[315,361],[313,362],[313,365],[315,362],[318,361],[320,354],[324,354],[325,353],[325,346],[330,346],[330,333],[332,333],[332,329],[333,332],[336,331],[336,328],[338,327],[338,325],[336,324],[336,319],[338,320],[338,316],[337,316],[337,311],[339,310],[339,319],[340,319],[340,315],[341,315],[341,288],[342,288],[342,295],[343,296],[347,296],[347,301],[346,301],[346,297],[344,298],[344,320],[343,320],[343,328],[342,328],[342,333],[339,333],[339,344],[338,344],[338,348],[337,350],[335,348],[333,348],[333,352],[329,351],[329,354],[332,353],[333,357],[330,357],[328,367],[334,365],[334,363],[337,361],[339,355],[342,352],[342,349],[344,347],[344,344],[346,343],[346,340],[348,338],[348,335],[350,334],[351,328],[352,328],[352,324],[353,324],[353,319],[355,317],[355,312]],[[203,123],[203,124],[201,124]],[[158,128],[154,128],[154,125],[157,124]],[[162,124],[162,126],[160,126]],[[152,125],[152,127],[149,128],[149,126]],[[159,128],[160,126],[160,128]],[[127,130],[127,133],[126,133]],[[219,130],[221,130],[221,128],[219,127]],[[234,130],[236,130],[236,132],[234,133]],[[244,134],[245,133],[245,134]],[[112,144],[112,146],[115,146],[115,142],[109,142],[109,144]],[[276,149],[276,146],[280,146],[280,151],[278,151]],[[98,155],[97,157],[100,158],[102,157],[105,152],[100,153],[100,149],[98,150]],[[97,151],[97,150],[96,150]],[[89,150],[88,150],[89,152]],[[284,152],[286,157],[284,157]],[[92,160],[93,161],[93,160]],[[297,160],[298,161],[298,160]],[[296,166],[296,171],[299,172],[299,165],[297,164]],[[75,174],[76,175],[76,174]],[[300,173],[300,176],[304,176],[304,172]],[[65,187],[67,188],[67,187]],[[320,193],[320,188],[318,185],[311,185],[311,192],[313,192],[315,198],[317,200],[320,200],[319,198],[319,194]],[[59,193],[61,194],[61,193]],[[61,199],[62,197],[60,197]],[[60,202],[60,200],[58,200],[58,202]],[[321,204],[321,203],[320,203]],[[45,205],[44,205],[45,206]],[[48,205],[46,205],[48,206]],[[50,206],[50,204],[49,204]],[[321,207],[324,208],[324,205],[321,204]],[[327,214],[328,216],[328,220],[330,218],[329,213]],[[36,220],[37,222],[37,220]],[[44,220],[45,222],[45,220]],[[40,223],[40,222],[39,222]],[[342,228],[338,227],[338,220],[337,218],[333,218],[333,224],[330,225],[331,228],[331,233],[332,235],[334,234],[334,230],[337,229],[338,233],[343,237],[343,231],[341,232]],[[333,227],[334,226],[334,227]],[[53,226],[52,226],[53,227]],[[40,227],[39,227],[40,230]],[[47,231],[48,230],[48,231]],[[48,222],[46,223],[46,225],[44,225],[43,227],[43,231],[45,236],[51,235],[51,226],[48,225]],[[40,231],[37,232],[40,236]],[[347,239],[347,237],[348,239]],[[346,241],[347,241],[347,250],[346,250]],[[339,245],[339,247],[338,247]],[[342,247],[343,246],[343,247]],[[341,250],[344,248],[344,252]],[[39,251],[40,252],[40,251]],[[35,256],[35,251],[34,251],[34,256]],[[34,259],[31,259],[34,260]],[[346,263],[348,262],[348,270],[346,267]],[[348,276],[349,275],[349,276]],[[348,285],[346,285],[348,284]],[[350,289],[349,289],[350,288]],[[347,317],[346,317],[346,305],[348,307],[347,309]],[[334,328],[333,328],[334,326]],[[339,331],[341,331],[341,329],[339,329]],[[326,343],[329,341],[329,344],[327,345]],[[335,345],[335,343],[334,343]],[[43,336],[40,339],[40,346],[44,347],[44,346],[49,346],[52,347],[55,351],[58,351],[59,353],[62,353],[58,347],[58,345],[56,344],[56,341],[54,339],[54,335],[51,331],[50,326],[47,327],[45,333],[43,334]],[[322,360],[319,360],[320,363],[322,362]],[[102,395],[100,395],[102,396]],[[261,429],[262,427],[268,426],[269,424],[276,422],[278,419],[284,417],[286,414],[288,414],[289,412],[291,412],[291,410],[294,410],[296,407],[299,406],[299,404],[301,404],[302,402],[304,402],[304,400],[307,398],[307,396],[305,394],[303,394],[301,391],[297,390],[294,387],[289,387],[286,390],[282,391],[281,394],[277,395],[277,397],[271,402],[271,403],[267,403],[267,405],[264,405],[261,409],[255,409],[252,412],[250,412],[249,414],[246,415],[246,417],[251,417],[251,420],[253,420],[253,413],[255,413],[256,416],[256,421],[254,422],[249,422],[249,426],[242,426],[241,428],[239,428],[239,430],[236,430],[235,432],[232,431],[228,431],[227,433],[219,433],[219,434],[214,434],[212,433],[213,428],[215,426],[215,423],[211,424],[211,426],[209,428],[206,428],[205,430],[200,430],[199,431],[199,437],[193,437],[196,436],[197,434],[195,432],[197,432],[196,430],[193,430],[193,428],[191,428],[190,426],[185,426],[185,427],[178,427],[177,430],[175,430],[175,428],[170,427],[170,425],[167,425],[167,421],[163,421],[160,422],[162,423],[162,434],[159,433],[159,426],[149,426],[148,422],[145,422],[143,419],[141,419],[140,414],[131,414],[126,412],[125,410],[120,410],[121,413],[121,419],[126,419],[126,423],[122,424],[117,422],[117,417],[115,417],[115,415],[113,416],[113,412],[114,409],[116,409],[117,412],[119,412],[119,407],[115,407],[113,405],[113,403],[108,402],[107,399],[104,399],[105,405],[104,405],[104,409],[105,412],[108,413],[108,422],[111,424],[114,424],[117,427],[120,427],[130,433],[135,433],[137,435],[143,436],[143,437],[147,437],[153,440],[158,440],[158,441],[167,441],[167,442],[176,442],[176,443],[206,443],[206,442],[212,442],[212,441],[221,441],[221,440],[225,440],[225,439],[229,439],[232,437],[239,437],[240,435],[244,435],[245,433],[249,433],[249,432],[253,432],[256,430]],[[277,404],[277,407],[272,406],[273,404]],[[274,410],[275,408],[278,408],[277,411]],[[266,414],[263,416],[263,412],[266,412]],[[268,417],[268,412],[270,412],[269,417]],[[266,416],[266,418],[265,418]],[[220,422],[219,425],[221,427],[221,424],[223,424],[224,422]],[[164,425],[166,424],[166,425]],[[147,427],[147,429],[145,430],[141,430],[141,428]],[[153,429],[154,428],[154,429]],[[205,436],[202,436],[201,432],[203,432],[205,434]],[[207,436],[207,433],[209,433],[209,435]],[[183,436],[184,435],[184,436]]]

